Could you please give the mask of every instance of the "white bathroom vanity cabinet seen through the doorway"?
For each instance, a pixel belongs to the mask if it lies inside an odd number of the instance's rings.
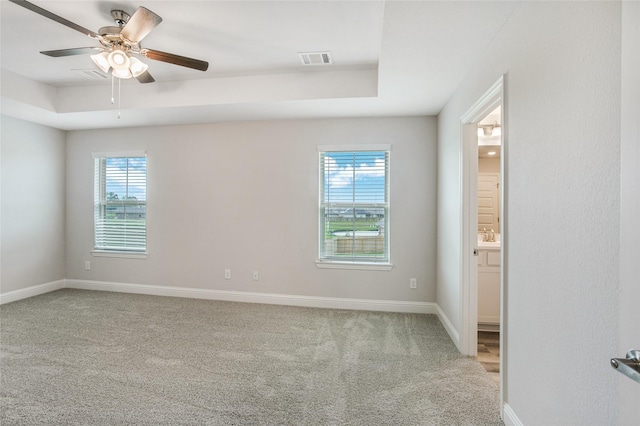
[[[500,325],[500,248],[478,248],[478,328]]]

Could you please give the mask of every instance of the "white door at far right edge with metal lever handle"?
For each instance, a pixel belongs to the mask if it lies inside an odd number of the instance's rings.
[[[620,314],[617,353],[640,350],[640,2],[622,2],[622,121],[620,144]],[[616,373],[620,425],[640,422],[640,383]]]

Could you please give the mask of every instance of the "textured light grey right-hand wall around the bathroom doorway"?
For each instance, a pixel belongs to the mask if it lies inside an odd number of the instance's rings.
[[[460,117],[506,74],[505,400],[615,424],[620,4],[523,2],[438,119],[438,304],[460,324]]]

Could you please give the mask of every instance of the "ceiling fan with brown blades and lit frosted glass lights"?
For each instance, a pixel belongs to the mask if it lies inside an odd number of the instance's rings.
[[[167,62],[199,71],[206,71],[209,63],[199,59],[187,58],[172,53],[142,48],[140,42],[160,22],[162,18],[145,7],[138,7],[133,15],[122,10],[112,10],[111,17],[117,26],[102,27],[93,32],[75,24],[61,16],[49,12],[25,0],[9,0],[19,6],[29,9],[45,18],[52,19],[59,24],[81,32],[98,42],[100,46],[76,47],[71,49],[47,50],[40,52],[52,57],[91,54],[93,62],[105,73],[111,70],[114,77],[121,79],[136,78],[140,83],[152,83],[154,78],[147,71],[148,65],[136,56],[144,56],[156,61]],[[134,56],[135,55],[135,56]]]

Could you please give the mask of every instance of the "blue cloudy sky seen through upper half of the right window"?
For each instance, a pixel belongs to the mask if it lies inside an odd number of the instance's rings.
[[[385,203],[383,151],[326,152],[325,203]]]

